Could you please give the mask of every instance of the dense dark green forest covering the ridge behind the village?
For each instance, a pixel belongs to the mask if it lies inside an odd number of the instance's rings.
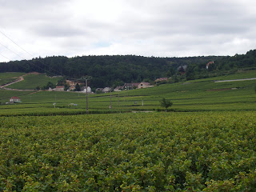
[[[206,69],[208,62],[214,61]],[[53,56],[32,60],[0,62],[0,72],[46,73],[78,79],[92,76],[90,86],[118,86],[124,82],[154,81],[156,78],[174,77],[176,81],[186,78],[207,78],[241,68],[256,68],[256,50],[230,56],[207,56],[189,58],[156,58],[135,55],[81,56],[67,58]]]

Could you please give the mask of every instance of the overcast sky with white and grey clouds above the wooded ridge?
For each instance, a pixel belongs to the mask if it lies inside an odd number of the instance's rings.
[[[0,62],[53,55],[234,55],[256,49],[253,0],[0,2]]]

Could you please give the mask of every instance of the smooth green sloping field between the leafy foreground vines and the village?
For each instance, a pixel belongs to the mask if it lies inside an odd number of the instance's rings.
[[[162,98],[170,99],[174,103],[171,107],[171,110],[174,111],[255,110],[256,94],[254,86],[256,80],[214,82],[215,80],[247,77],[256,77],[255,70],[198,81],[164,84],[142,90],[113,92],[111,94],[111,109],[110,94],[90,94],[88,99],[89,110],[91,113],[97,111],[102,113],[132,110],[157,111],[163,110],[159,105]],[[1,93],[0,102],[8,102],[7,97],[10,97],[12,92],[1,90]],[[13,93],[12,96],[22,98],[22,103],[14,106],[0,106],[2,108],[0,114],[31,114],[32,112],[33,114],[81,114],[86,112],[86,94],[54,91],[39,91],[34,94],[30,94],[30,92]],[[56,103],[56,105],[53,106],[53,103]],[[72,106],[71,103],[77,104],[77,106]],[[33,110],[26,110],[27,108]]]

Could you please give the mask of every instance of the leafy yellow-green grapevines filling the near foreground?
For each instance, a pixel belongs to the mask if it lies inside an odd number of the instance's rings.
[[[0,117],[0,191],[253,191],[252,111]]]

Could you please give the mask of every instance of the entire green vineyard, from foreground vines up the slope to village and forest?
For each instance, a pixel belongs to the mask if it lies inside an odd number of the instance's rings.
[[[254,191],[256,81],[214,82],[254,74],[90,94],[90,114],[86,94],[0,90],[0,192]]]

